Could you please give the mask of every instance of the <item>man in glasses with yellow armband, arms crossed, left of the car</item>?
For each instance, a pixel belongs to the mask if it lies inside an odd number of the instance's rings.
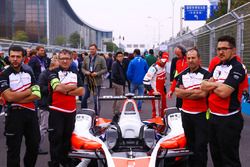
[[[59,53],[59,68],[49,76],[51,104],[49,114],[50,167],[71,164],[68,152],[74,129],[76,96],[83,94],[82,80],[70,69],[72,55],[68,50]]]

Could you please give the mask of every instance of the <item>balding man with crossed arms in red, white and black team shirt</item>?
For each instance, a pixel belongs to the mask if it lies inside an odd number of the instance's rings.
[[[188,148],[194,152],[189,157],[190,167],[207,166],[208,122],[207,92],[200,89],[203,79],[209,78],[209,72],[200,67],[200,54],[196,48],[187,51],[188,68],[177,78],[176,96],[182,99],[180,108],[182,126]]]

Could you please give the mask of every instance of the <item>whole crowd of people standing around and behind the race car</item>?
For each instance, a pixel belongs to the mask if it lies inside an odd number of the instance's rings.
[[[209,70],[201,67],[197,48],[176,46],[167,92],[167,52],[142,55],[118,51],[115,55],[98,54],[95,44],[89,53],[78,55],[66,49],[48,58],[43,46],[24,50],[11,46],[8,57],[0,52],[0,93],[5,108],[7,166],[20,166],[22,137],[25,137],[24,166],[35,166],[38,154],[47,154],[44,140],[49,134],[49,167],[69,167],[70,137],[77,109],[88,108],[93,96],[94,110],[100,115],[103,78],[109,80],[114,95],[128,91],[137,95],[160,95],[160,105],[152,100],[152,118],[164,117],[167,98],[176,94],[176,107],[182,115],[187,147],[194,153],[190,167],[206,167],[208,144],[215,167],[240,167],[239,143],[243,128],[241,96],[248,89],[247,72],[236,55],[235,39],[222,36],[217,41],[217,55]],[[142,101],[137,102],[138,111]],[[121,104],[113,103],[119,115]]]

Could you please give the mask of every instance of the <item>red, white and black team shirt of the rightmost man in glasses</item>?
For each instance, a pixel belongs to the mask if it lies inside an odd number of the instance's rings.
[[[226,84],[233,88],[234,91],[227,98],[221,98],[214,92],[211,92],[208,98],[211,112],[221,116],[228,116],[239,112],[243,92],[243,86],[241,85],[244,84],[243,81],[246,76],[243,65],[234,57],[224,64],[218,64],[212,72],[212,76],[215,82]]]

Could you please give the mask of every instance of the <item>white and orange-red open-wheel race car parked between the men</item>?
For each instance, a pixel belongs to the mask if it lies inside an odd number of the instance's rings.
[[[113,120],[97,118],[91,109],[77,112],[69,156],[78,167],[184,166],[192,153],[186,139],[181,114],[166,110],[165,118],[141,121],[135,100],[157,100],[157,96],[103,96],[101,100],[125,100]]]

